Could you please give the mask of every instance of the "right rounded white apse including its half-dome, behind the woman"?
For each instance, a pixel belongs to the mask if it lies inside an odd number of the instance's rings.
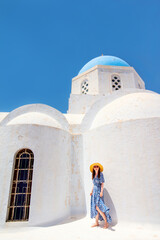
[[[133,93],[105,107],[101,101],[82,123],[87,214],[92,188],[89,166],[100,162],[113,223],[160,224],[160,95]],[[101,108],[96,112],[97,106]]]

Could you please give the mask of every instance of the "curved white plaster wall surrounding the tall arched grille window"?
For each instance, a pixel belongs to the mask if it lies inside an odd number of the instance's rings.
[[[68,132],[36,124],[0,128],[0,224],[5,224],[15,153],[34,153],[29,225],[50,224],[71,211],[71,136]]]

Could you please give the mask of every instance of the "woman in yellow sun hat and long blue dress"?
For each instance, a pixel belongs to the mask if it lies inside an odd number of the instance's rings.
[[[92,172],[93,187],[90,193],[91,195],[91,218],[96,219],[95,224],[92,227],[99,226],[98,220],[105,221],[104,228],[108,228],[112,222],[112,218],[109,215],[110,208],[104,203],[103,187],[104,176],[103,166],[100,163],[93,163],[90,165],[90,171]]]

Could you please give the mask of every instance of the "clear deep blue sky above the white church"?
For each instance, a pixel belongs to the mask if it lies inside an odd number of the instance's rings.
[[[43,103],[66,113],[71,79],[102,53],[160,93],[160,1],[1,0],[0,112]]]

